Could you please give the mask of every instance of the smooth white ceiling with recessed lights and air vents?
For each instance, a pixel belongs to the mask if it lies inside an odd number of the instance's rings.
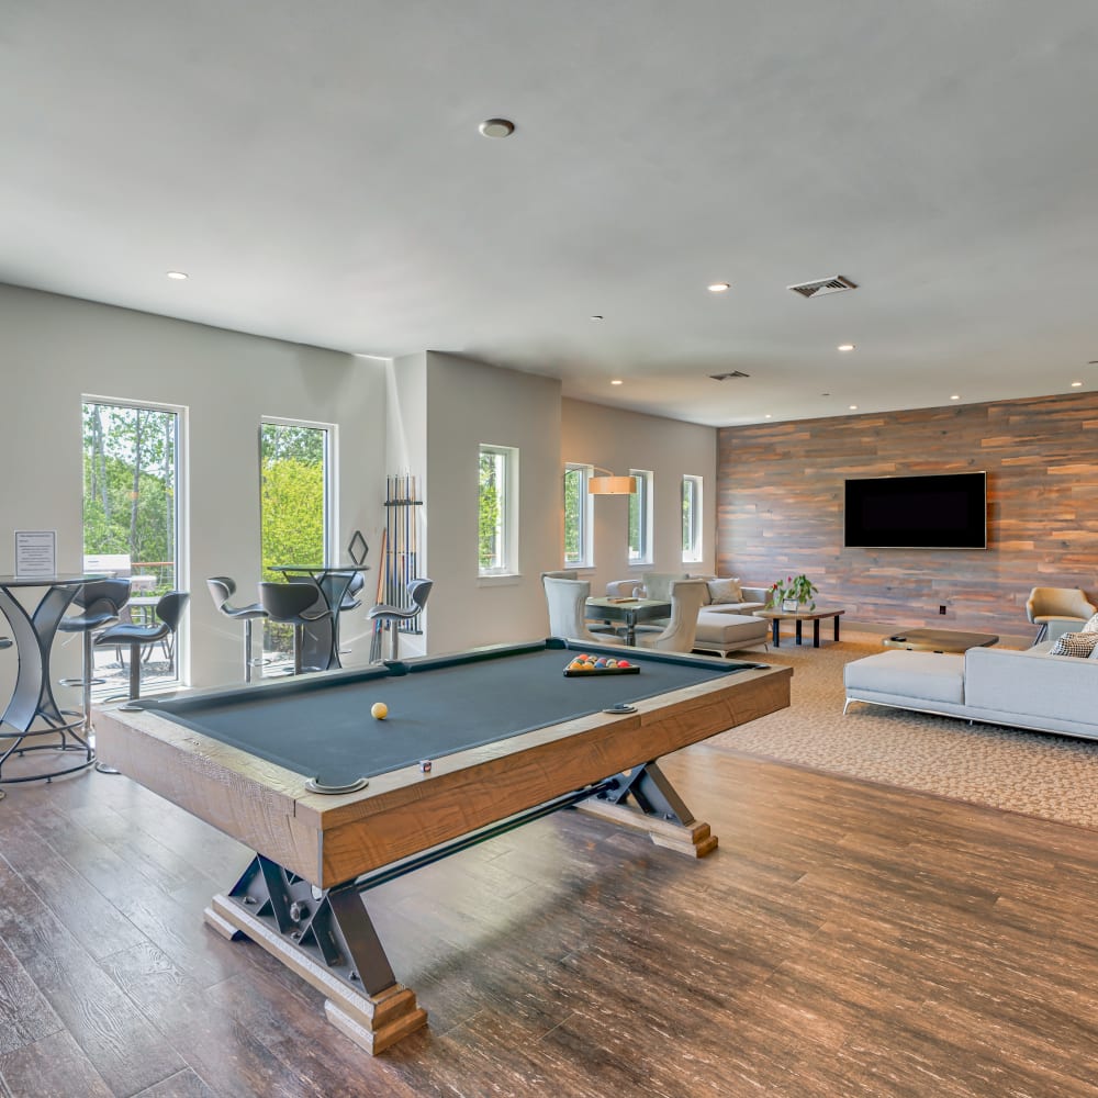
[[[1096,57],[1094,0],[0,0],[0,281],[714,425],[1091,390]]]

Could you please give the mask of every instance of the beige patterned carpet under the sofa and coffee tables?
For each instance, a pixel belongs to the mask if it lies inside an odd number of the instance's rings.
[[[858,702],[843,716],[843,665],[882,651],[878,637],[854,635],[739,653],[794,668],[792,705],[707,746],[1098,829],[1098,741]]]

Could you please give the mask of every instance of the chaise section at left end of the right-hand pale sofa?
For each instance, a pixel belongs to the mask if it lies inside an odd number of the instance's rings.
[[[906,649],[853,660],[842,671],[847,704],[875,702],[923,713],[964,715],[964,656]]]

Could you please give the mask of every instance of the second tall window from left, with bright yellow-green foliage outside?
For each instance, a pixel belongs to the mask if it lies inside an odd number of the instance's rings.
[[[276,564],[323,564],[333,527],[330,449],[334,428],[292,419],[259,425],[259,526],[265,580]],[[265,621],[266,666],[280,673],[293,658],[293,626]]]

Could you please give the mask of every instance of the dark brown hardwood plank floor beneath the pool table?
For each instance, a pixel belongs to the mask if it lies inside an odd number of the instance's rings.
[[[429,1027],[369,1057],[202,908],[233,840],[89,773],[0,802],[0,1094],[1095,1096],[1098,832],[663,763],[701,862],[567,811],[367,896]]]

